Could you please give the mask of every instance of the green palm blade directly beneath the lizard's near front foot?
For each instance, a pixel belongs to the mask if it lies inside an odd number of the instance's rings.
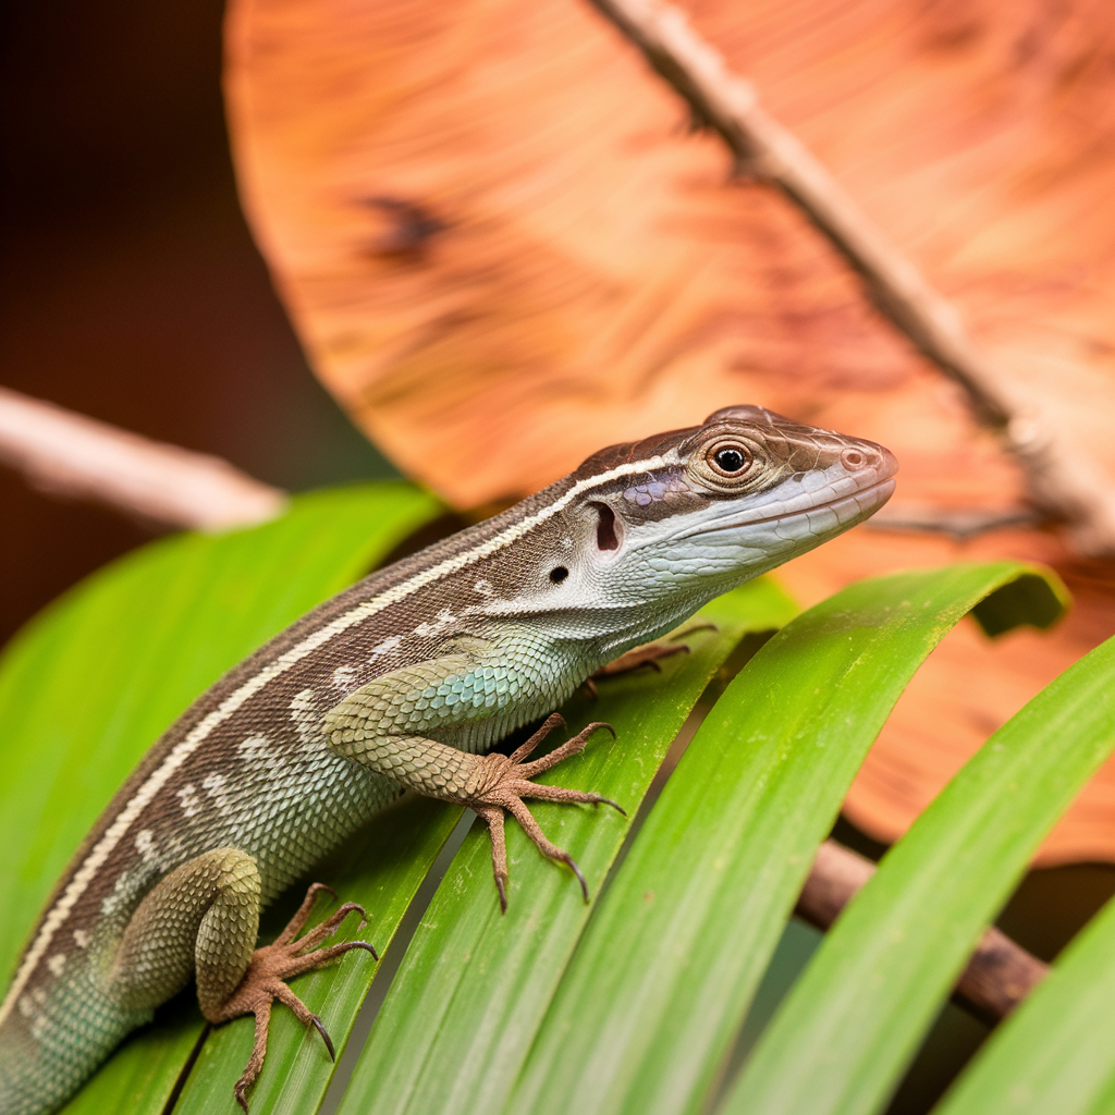
[[[579,861],[593,894],[709,679],[746,632],[779,627],[793,612],[770,582],[753,582],[699,613],[718,632],[694,633],[692,652],[665,662],[661,676],[602,682],[598,702],[564,709],[571,731],[601,719],[617,740],[594,736],[582,756],[542,780],[591,788],[629,816],[605,807],[531,808]],[[501,915],[487,831],[469,833],[391,985],[341,1113],[488,1112],[506,1099],[591,910],[569,871],[544,860],[514,822],[507,851],[510,904]]]

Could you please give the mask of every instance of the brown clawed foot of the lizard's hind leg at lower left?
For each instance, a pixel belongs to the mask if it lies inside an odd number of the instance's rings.
[[[240,1015],[255,1016],[255,1045],[252,1048],[252,1056],[248,1058],[244,1072],[233,1088],[236,1103],[245,1113],[248,1112],[248,1089],[254,1083],[255,1077],[260,1075],[263,1058],[266,1056],[268,1026],[271,1021],[271,1005],[275,999],[287,1004],[294,1011],[294,1016],[307,1026],[313,1026],[326,1043],[329,1056],[333,1060],[337,1059],[333,1044],[326,1032],[321,1019],[294,995],[284,981],[301,972],[320,968],[350,949],[367,949],[377,960],[379,959],[376,950],[367,941],[342,941],[340,944],[331,944],[323,949],[317,948],[327,937],[337,932],[341,922],[350,913],[359,913],[360,924],[363,925],[365,911],[356,902],[346,902],[320,925],[311,929],[297,941],[294,940],[309,919],[314,899],[321,891],[328,891],[333,898],[337,896],[332,888],[324,883],[313,883],[306,892],[306,899],[294,917],[288,922],[287,928],[271,944],[265,944],[252,953],[248,971],[244,972],[244,978],[229,1001],[224,1004],[221,1017],[211,1019],[212,1021],[224,1021]]]

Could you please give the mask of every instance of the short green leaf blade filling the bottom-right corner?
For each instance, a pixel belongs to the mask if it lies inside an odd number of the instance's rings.
[[[1093,918],[1046,979],[996,1030],[935,1115],[1113,1111],[1115,901]]]

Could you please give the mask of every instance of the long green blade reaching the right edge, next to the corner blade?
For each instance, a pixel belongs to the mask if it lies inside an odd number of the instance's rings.
[[[882,1109],[980,932],[1113,748],[1109,640],[991,736],[883,859],[764,1034],[726,1115]]]

